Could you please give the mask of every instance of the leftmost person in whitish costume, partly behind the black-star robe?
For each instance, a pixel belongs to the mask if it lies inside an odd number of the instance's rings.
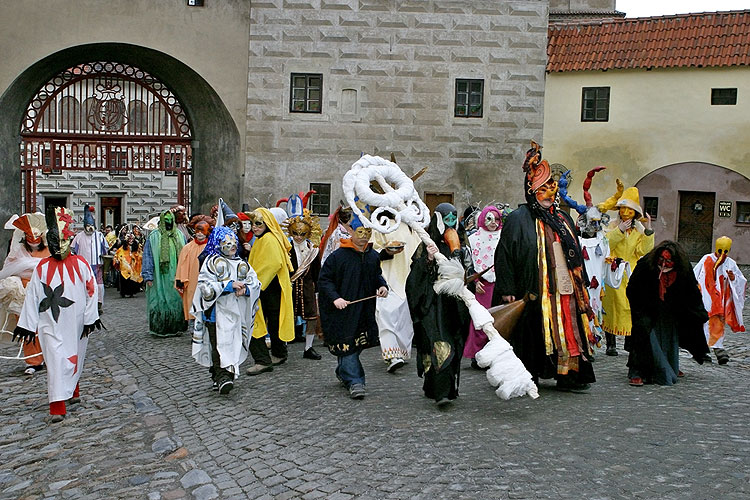
[[[21,217],[14,215],[9,222],[10,226],[6,224],[5,227],[15,230],[10,252],[0,270],[0,309],[5,309],[6,320],[13,322],[13,325],[7,325],[8,331],[15,326],[21,313],[23,294],[34,269],[42,259],[50,256],[44,241],[47,233],[44,214],[23,214]],[[23,356],[27,365],[24,370],[26,375],[34,375],[45,368],[38,336],[31,342],[24,342]]]

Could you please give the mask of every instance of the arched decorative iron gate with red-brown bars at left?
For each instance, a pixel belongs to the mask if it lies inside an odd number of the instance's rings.
[[[40,88],[21,124],[21,198],[36,209],[36,177],[63,170],[162,171],[188,208],[192,131],[182,105],[145,71],[115,62],[66,69]]]

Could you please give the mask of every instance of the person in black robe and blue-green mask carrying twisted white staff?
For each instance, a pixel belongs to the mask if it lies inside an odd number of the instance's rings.
[[[435,207],[427,233],[432,245],[421,243],[412,257],[406,280],[406,297],[414,321],[414,345],[417,348],[417,374],[424,377],[425,396],[438,406],[458,397],[461,353],[469,326],[469,312],[452,295],[438,294],[433,285],[438,279],[435,254],[441,253],[459,263],[462,260],[461,237],[456,230],[458,213],[450,203]]]

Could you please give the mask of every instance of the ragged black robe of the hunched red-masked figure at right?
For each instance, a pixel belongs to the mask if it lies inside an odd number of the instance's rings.
[[[659,249],[661,245],[651,252]],[[658,328],[662,335],[676,336],[679,346],[688,350],[698,363],[703,364],[703,359],[709,352],[703,333],[708,313],[703,307],[698,282],[689,268],[672,271],[677,273],[675,281],[667,287],[664,301],[659,298],[659,269],[652,263],[651,252],[638,260],[626,290],[633,318],[627,346],[630,351],[628,367],[631,376],[661,383],[654,362],[651,330]]]

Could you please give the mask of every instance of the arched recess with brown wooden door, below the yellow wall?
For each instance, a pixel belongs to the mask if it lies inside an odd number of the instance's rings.
[[[722,235],[734,240],[731,256],[750,263],[750,179],[711,163],[658,168],[637,183],[644,210],[654,217],[656,239],[676,240],[693,260]]]

